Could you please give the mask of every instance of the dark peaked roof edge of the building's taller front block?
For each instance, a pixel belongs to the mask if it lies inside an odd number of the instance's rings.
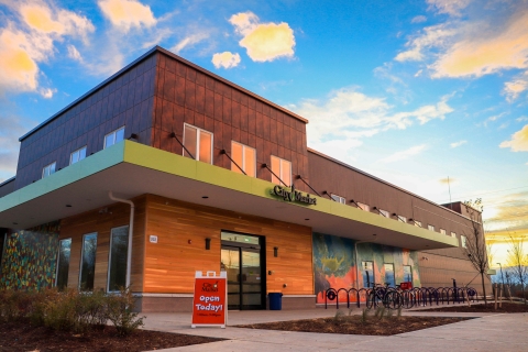
[[[274,108],[289,114],[290,117],[304,122],[304,123],[308,123],[308,120],[305,119],[305,118],[301,118],[300,116],[296,114],[295,112],[292,112],[289,111],[288,109],[286,108],[283,108],[245,88],[242,88],[229,80],[227,80],[226,78],[222,78],[174,53],[170,53],[169,51],[167,51],[166,48],[163,48],[158,45],[154,46],[153,48],[151,48],[148,52],[146,52],[145,54],[141,55],[140,57],[138,57],[136,59],[134,59],[132,63],[130,63],[129,65],[124,66],[123,68],[121,68],[120,70],[118,70],[116,74],[113,74],[112,76],[110,76],[109,78],[105,79],[102,82],[100,82],[99,85],[97,85],[96,87],[91,88],[90,90],[88,90],[86,94],[84,94],[82,96],[80,96],[79,98],[75,99],[73,102],[70,102],[69,105],[67,105],[65,108],[63,108],[62,110],[59,110],[57,113],[53,114],[51,118],[48,118],[47,120],[43,121],[42,123],[40,123],[38,125],[36,125],[35,128],[33,128],[32,130],[30,130],[28,133],[25,133],[24,135],[22,135],[20,139],[19,139],[19,142],[22,142],[23,140],[25,140],[26,138],[29,138],[30,135],[32,135],[33,133],[35,133],[36,131],[38,131],[40,129],[42,129],[43,127],[45,127],[46,124],[48,124],[50,122],[52,122],[53,120],[55,120],[56,118],[58,118],[61,114],[63,114],[64,112],[66,112],[68,109],[73,108],[75,105],[79,103],[81,100],[84,100],[85,98],[87,98],[88,96],[92,95],[94,92],[96,92],[97,90],[99,90],[100,88],[102,88],[105,85],[107,85],[108,82],[110,82],[111,80],[116,79],[117,77],[123,75],[125,72],[132,69],[135,65],[138,65],[140,62],[146,59],[148,56],[151,56],[152,54],[154,53],[163,53],[167,56],[170,56],[190,67],[193,67],[194,69],[196,70],[199,70],[208,76],[211,76],[220,81],[222,81],[223,84],[228,85],[228,86],[231,86],[238,90],[241,90],[243,91],[244,94],[246,95],[250,95],[252,96],[253,98],[256,98],[261,101],[264,101],[265,103],[267,105],[271,105],[273,106]]]

